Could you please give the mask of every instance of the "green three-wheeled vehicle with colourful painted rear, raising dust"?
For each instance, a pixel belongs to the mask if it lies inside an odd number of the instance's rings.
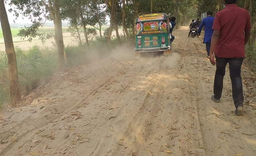
[[[163,52],[170,54],[170,25],[165,13],[146,14],[135,21],[135,53]]]

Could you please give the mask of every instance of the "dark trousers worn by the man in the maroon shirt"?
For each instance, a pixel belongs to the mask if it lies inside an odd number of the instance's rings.
[[[244,58],[220,58],[216,56],[216,74],[214,80],[214,96],[220,99],[223,89],[223,77],[226,72],[226,65],[229,63],[230,78],[232,82],[232,95],[236,108],[243,106],[243,85],[241,79],[241,66]]]

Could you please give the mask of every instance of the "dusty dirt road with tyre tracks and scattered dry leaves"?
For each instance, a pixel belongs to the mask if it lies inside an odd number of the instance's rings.
[[[251,86],[243,117],[234,115],[229,76],[222,102],[212,102],[215,67],[202,37],[187,33],[174,32],[169,57],[134,58],[125,47],[59,73],[31,104],[0,114],[0,155],[255,156]]]

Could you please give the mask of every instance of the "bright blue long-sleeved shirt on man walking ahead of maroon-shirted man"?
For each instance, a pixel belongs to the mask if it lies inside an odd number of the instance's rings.
[[[211,42],[211,36],[213,34],[212,25],[214,22],[214,17],[207,16],[203,19],[202,23],[200,24],[198,33],[201,33],[201,30],[204,26],[204,39],[203,43],[210,43]]]

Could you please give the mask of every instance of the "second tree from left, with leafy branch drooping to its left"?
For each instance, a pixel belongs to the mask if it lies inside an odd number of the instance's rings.
[[[64,42],[62,33],[62,18],[60,14],[59,0],[11,0],[11,5],[15,15],[22,14],[33,21],[33,25],[29,28],[23,29],[19,34],[23,37],[37,36],[38,28],[42,23],[42,17],[52,20],[55,30],[55,42],[57,45],[59,55],[59,65],[63,65],[64,61]]]

